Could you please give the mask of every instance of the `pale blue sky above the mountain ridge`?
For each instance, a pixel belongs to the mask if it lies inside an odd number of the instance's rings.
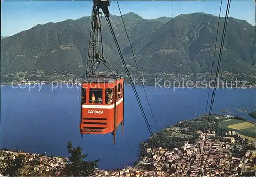
[[[220,0],[208,1],[118,1],[122,14],[134,12],[145,19],[161,16],[204,12],[218,16]],[[92,1],[17,1],[3,0],[1,9],[1,35],[12,36],[37,24],[59,22],[91,16]],[[225,16],[227,0],[223,0],[222,16]],[[120,15],[117,3],[112,0],[110,13]],[[229,16],[243,19],[255,25],[255,2],[232,0]]]

